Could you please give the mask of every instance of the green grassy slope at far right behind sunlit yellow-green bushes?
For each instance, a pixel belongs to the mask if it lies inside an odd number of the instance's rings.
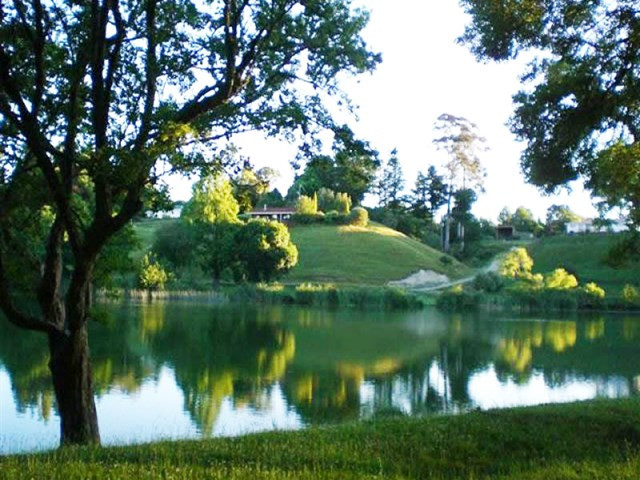
[[[640,262],[616,269],[605,265],[616,235],[561,235],[541,239],[528,247],[534,272],[550,272],[564,267],[578,275],[581,284],[596,282],[607,292],[620,293],[625,283],[640,283]]]

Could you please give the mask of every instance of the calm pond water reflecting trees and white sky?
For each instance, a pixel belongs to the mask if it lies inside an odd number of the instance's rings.
[[[624,397],[640,317],[109,305],[91,349],[105,444]],[[44,337],[0,322],[0,453],[55,447]]]

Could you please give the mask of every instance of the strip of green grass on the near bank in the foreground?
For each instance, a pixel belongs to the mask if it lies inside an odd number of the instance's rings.
[[[640,400],[0,457],[11,479],[637,479]]]

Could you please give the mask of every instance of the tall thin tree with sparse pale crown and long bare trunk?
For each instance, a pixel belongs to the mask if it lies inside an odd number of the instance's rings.
[[[485,150],[486,140],[478,127],[464,117],[444,113],[435,124],[438,138],[434,144],[443,150],[448,160],[444,165],[447,173],[447,216],[445,218],[443,249],[449,251],[451,228],[451,200],[458,189],[482,188],[485,171],[479,154]]]

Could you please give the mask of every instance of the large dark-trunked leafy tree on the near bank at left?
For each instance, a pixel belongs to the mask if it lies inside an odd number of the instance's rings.
[[[48,335],[61,443],[99,443],[88,292],[107,242],[161,172],[216,163],[210,153],[234,133],[297,130],[311,140],[339,130],[323,106],[338,74],[370,71],[380,57],[360,35],[367,12],[348,0],[16,0],[1,16],[0,308]],[[28,202],[16,200],[23,188]],[[17,300],[8,257],[17,210],[33,217],[45,207],[53,221],[32,250],[35,315]]]

